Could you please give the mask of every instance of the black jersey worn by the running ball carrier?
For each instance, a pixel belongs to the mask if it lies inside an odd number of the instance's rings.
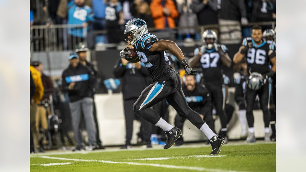
[[[177,72],[169,65],[166,51],[149,51],[157,40],[155,35],[147,33],[137,41],[134,48],[141,62],[146,65],[153,81],[162,82],[174,78]]]

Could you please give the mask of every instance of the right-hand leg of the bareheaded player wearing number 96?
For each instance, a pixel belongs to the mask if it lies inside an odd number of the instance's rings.
[[[258,90],[258,95],[259,95],[259,102],[260,102],[260,107],[261,110],[263,111],[263,122],[265,123],[265,141],[271,141],[270,140],[270,119],[271,115],[268,109],[268,104],[269,104],[269,84],[266,83],[264,84],[259,90]]]

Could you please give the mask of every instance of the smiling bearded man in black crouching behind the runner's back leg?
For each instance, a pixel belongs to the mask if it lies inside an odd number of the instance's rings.
[[[211,96],[209,95],[208,90],[203,85],[196,83],[196,78],[194,76],[183,76],[183,82],[182,90],[186,96],[188,106],[199,113],[207,125],[214,130],[214,120],[211,111]],[[184,122],[185,118],[181,118],[179,115],[174,119],[174,124],[181,129],[183,129]],[[180,137],[177,139],[175,146],[180,146],[183,143],[183,137]]]

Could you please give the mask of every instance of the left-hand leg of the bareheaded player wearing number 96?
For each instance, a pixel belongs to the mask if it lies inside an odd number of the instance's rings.
[[[247,121],[248,121],[248,137],[245,141],[247,142],[255,142],[256,138],[254,135],[254,116],[253,116],[253,109],[254,109],[254,102],[256,99],[256,91],[252,90],[251,88],[246,88],[246,114],[247,114]]]

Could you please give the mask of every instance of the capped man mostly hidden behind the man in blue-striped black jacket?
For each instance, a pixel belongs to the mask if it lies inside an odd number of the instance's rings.
[[[85,44],[79,43],[76,46],[75,51],[80,58],[80,63],[82,65],[84,65],[85,67],[87,67],[89,69],[89,71],[91,72],[91,74],[93,75],[94,86],[93,86],[92,99],[93,99],[93,116],[94,116],[94,120],[95,120],[96,131],[97,131],[96,132],[97,149],[105,149],[104,146],[102,145],[102,141],[100,140],[99,125],[98,125],[98,120],[97,120],[97,111],[96,111],[95,97],[94,97],[96,89],[98,87],[97,86],[98,71],[93,64],[91,64],[90,62],[88,62],[86,60],[86,51],[87,50],[88,50],[88,48],[85,46]]]

